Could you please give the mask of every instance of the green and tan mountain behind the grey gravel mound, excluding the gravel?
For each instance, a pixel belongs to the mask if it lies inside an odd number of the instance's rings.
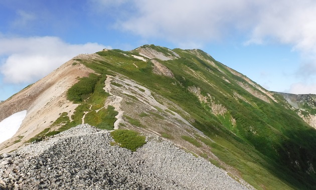
[[[0,121],[27,114],[0,152],[88,123],[160,136],[257,189],[313,189],[314,98],[268,91],[200,49],[103,49],[2,102]]]

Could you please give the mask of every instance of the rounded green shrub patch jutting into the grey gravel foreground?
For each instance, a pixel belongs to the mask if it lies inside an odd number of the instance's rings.
[[[111,135],[121,147],[131,151],[136,151],[138,147],[146,143],[146,137],[133,130],[117,129],[111,131]]]

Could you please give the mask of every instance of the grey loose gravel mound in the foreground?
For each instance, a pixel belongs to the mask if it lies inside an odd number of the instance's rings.
[[[81,124],[0,155],[0,189],[248,189],[203,158],[153,137],[137,151]]]

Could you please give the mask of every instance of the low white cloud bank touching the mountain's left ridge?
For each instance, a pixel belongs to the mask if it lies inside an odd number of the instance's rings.
[[[8,83],[34,82],[80,53],[105,47],[98,43],[69,44],[58,37],[1,38],[0,73]]]

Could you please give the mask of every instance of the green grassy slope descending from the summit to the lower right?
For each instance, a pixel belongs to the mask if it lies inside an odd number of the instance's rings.
[[[155,48],[168,52],[163,47]],[[177,103],[194,117],[192,124],[215,141],[205,142],[212,152],[237,168],[242,177],[256,188],[311,189],[316,185],[316,176],[306,173],[308,162],[316,165],[316,131],[294,111],[285,109],[281,96],[275,96],[280,103],[267,103],[240,87],[237,81],[246,82],[243,78],[232,74],[203,51],[199,51],[201,56],[213,61],[221,71],[190,51],[174,51],[182,58],[159,61],[172,70],[175,78],[153,74],[150,61],[135,59],[128,51],[101,51],[98,54],[103,56],[104,61],[81,63],[97,73],[112,70],[124,74]],[[195,77],[189,68],[200,73],[206,81]],[[236,119],[236,125],[229,127],[227,118],[212,114],[209,107],[201,104],[196,95],[188,90],[193,85],[199,86],[202,94],[209,93],[217,103],[224,105]],[[247,102],[236,99],[234,92]]]

